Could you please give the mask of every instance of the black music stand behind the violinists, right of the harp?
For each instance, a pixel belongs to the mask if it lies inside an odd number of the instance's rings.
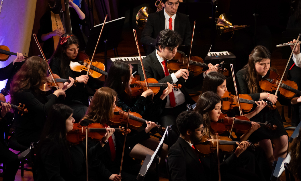
[[[107,67],[107,50],[117,48],[121,41],[121,33],[123,30],[124,17],[116,20],[106,22],[103,32],[101,34],[97,49],[95,53],[104,52],[104,65]],[[96,25],[90,29],[85,53],[92,56],[99,34],[101,32],[102,24]]]

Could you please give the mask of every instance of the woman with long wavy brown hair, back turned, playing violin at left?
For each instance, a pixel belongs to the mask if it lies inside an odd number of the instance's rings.
[[[65,82],[64,87],[46,96],[39,87],[45,82],[47,72],[47,63],[38,56],[32,56],[25,61],[11,82],[11,102],[15,105],[25,104],[28,110],[23,116],[16,111],[14,117],[14,136],[24,146],[39,141],[50,107],[57,102],[60,95],[66,96],[65,90],[74,82],[69,77],[70,83]]]

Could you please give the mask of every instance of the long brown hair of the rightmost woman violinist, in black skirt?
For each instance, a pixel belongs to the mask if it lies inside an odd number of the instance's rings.
[[[261,62],[262,59],[271,59],[270,51],[265,46],[255,46],[249,56],[248,64],[244,66],[244,68],[247,68],[246,81],[251,94],[259,92],[258,81],[260,75],[256,73],[255,64]]]

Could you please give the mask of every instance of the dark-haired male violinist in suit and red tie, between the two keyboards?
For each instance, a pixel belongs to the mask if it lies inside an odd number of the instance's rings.
[[[179,90],[173,90],[162,103],[163,112],[160,115],[160,124],[166,128],[169,125],[175,125],[177,116],[186,110],[186,104],[194,104],[189,94],[184,87],[193,88],[203,83],[203,79],[210,71],[217,71],[217,66],[213,66],[209,63],[209,69],[203,74],[194,76],[193,73],[189,73],[187,69],[180,69],[175,73],[170,74],[167,69],[166,60],[171,60],[176,52],[179,44],[182,42],[179,33],[173,30],[162,30],[156,40],[156,50],[150,55],[146,56],[142,62],[147,78],[154,78],[159,83],[175,83],[181,84],[182,88]],[[144,80],[141,64],[138,63],[138,73],[141,80]],[[185,82],[186,80],[186,82]],[[162,95],[165,87],[160,87],[160,91],[154,96],[154,99]]]

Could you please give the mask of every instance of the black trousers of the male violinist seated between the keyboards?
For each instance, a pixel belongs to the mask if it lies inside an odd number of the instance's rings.
[[[164,108],[163,112],[160,115],[160,124],[162,127],[166,128],[169,125],[175,125],[175,120],[178,115],[183,111],[186,111],[186,102],[178,105],[174,108]]]

